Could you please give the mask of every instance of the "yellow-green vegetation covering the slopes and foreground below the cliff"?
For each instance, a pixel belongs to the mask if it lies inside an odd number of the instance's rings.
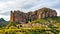
[[[43,24],[47,25],[47,27],[22,27],[21,24],[16,24],[14,22],[1,27],[0,34],[60,34],[60,16],[37,19],[31,22],[29,21],[29,23]]]

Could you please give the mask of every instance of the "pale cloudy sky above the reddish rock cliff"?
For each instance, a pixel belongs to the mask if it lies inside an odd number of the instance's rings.
[[[0,18],[9,20],[11,10],[29,12],[42,7],[55,9],[60,16],[59,0],[0,0]]]

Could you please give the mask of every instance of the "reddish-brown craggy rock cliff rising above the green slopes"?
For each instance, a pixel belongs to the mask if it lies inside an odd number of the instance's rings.
[[[27,23],[27,21],[33,21],[36,19],[52,17],[52,16],[57,16],[57,12],[50,8],[42,8],[28,13],[24,13],[17,10],[17,11],[11,11],[10,22]]]

